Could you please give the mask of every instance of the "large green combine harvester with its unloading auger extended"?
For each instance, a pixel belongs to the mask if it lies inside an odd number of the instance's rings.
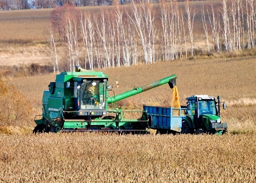
[[[49,84],[49,91],[44,91],[43,113],[35,117],[37,126],[33,132],[146,132],[147,120],[125,119],[122,109],[108,109],[109,104],[166,83],[173,88],[176,75],[110,96],[112,86],[108,85],[107,75],[76,66],[75,72],[57,74],[55,82]],[[36,120],[38,116],[41,119]]]

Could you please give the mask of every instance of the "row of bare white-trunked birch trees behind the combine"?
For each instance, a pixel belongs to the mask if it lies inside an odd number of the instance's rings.
[[[254,0],[221,0],[193,8],[189,2],[161,2],[159,10],[152,3],[132,3],[130,8],[113,6],[99,14],[82,12],[68,5],[52,12],[49,29],[52,62],[58,70],[58,48],[65,49],[64,59],[70,71],[76,65],[86,69],[155,63],[194,56],[195,19],[200,22],[208,54],[250,49],[255,46],[256,3]],[[58,38],[54,37],[58,32]]]

